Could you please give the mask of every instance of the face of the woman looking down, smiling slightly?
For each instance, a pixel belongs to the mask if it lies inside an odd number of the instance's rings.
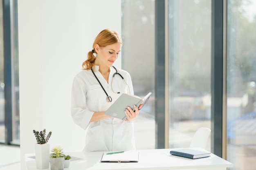
[[[122,44],[119,42],[106,47],[100,47],[96,44],[95,51],[97,52],[97,57],[95,64],[99,66],[112,67],[121,52],[121,47]]]

